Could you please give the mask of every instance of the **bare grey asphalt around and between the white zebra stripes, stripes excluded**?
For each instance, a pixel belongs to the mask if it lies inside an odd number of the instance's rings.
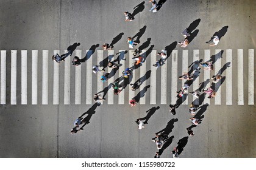
[[[157,148],[151,141],[155,132],[166,127],[174,118],[170,136],[174,136],[162,157],[172,157],[171,151],[183,139],[180,157],[255,157],[255,105],[247,105],[247,95],[244,105],[237,105],[237,60],[236,50],[244,49],[244,94],[248,92],[248,49],[256,46],[256,1],[169,1],[167,0],[157,13],[148,12],[151,4],[144,3],[144,9],[135,15],[132,22],[124,22],[123,12],[133,12],[133,7],[143,1],[3,1],[0,5],[0,49],[7,50],[7,104],[0,105],[0,157],[154,157]],[[10,50],[55,49],[65,50],[74,42],[80,42],[77,49],[88,50],[94,44],[111,43],[119,33],[124,33],[121,40],[114,44],[115,53],[118,50],[129,50],[127,36],[133,36],[146,25],[146,30],[140,38],[141,44],[151,38],[154,50],[161,50],[172,42],[182,40],[180,33],[191,22],[201,19],[196,27],[199,32],[189,44],[188,63],[193,63],[193,50],[200,50],[200,58],[204,59],[203,50],[209,49],[205,41],[213,33],[228,25],[227,33],[221,38],[217,47],[210,47],[211,55],[215,49],[233,49],[233,104],[227,106],[226,91],[222,89],[222,104],[210,106],[203,113],[202,123],[193,128],[194,137],[188,137],[186,128],[191,125],[188,105],[180,105],[177,114],[169,114],[171,95],[167,97],[168,104],[160,104],[160,87],[157,89],[157,104],[146,104],[130,107],[128,104],[118,105],[106,103],[96,107],[90,115],[90,123],[85,130],[71,135],[74,120],[90,107],[85,103],[80,105],[52,105],[52,61],[49,60],[49,104],[41,105],[41,63],[38,59],[38,104],[31,105],[31,69],[27,72],[27,105],[21,105],[21,89],[17,89],[18,104],[10,104]],[[150,47],[149,46],[149,47]],[[147,49],[149,48],[147,47]],[[96,50],[97,50],[96,49]],[[176,47],[179,53],[182,50]],[[83,54],[84,55],[84,54]],[[40,55],[38,55],[40,56]],[[225,55],[224,55],[225,56]],[[116,57],[116,56],[115,56]],[[181,56],[180,56],[181,57]],[[171,58],[171,57],[170,57]],[[168,70],[171,70],[171,59],[168,59]],[[150,58],[148,58],[150,60]],[[148,60],[147,59],[147,60]],[[17,59],[20,63],[21,59]],[[225,58],[222,65],[225,64]],[[126,61],[128,63],[128,61]],[[97,63],[96,57],[93,64]],[[31,61],[27,60],[28,66]],[[178,72],[182,72],[181,60],[178,61]],[[60,66],[63,70],[64,64]],[[147,70],[150,63],[147,63]],[[18,64],[17,70],[21,66]],[[171,72],[171,71],[170,71]],[[71,67],[71,75],[75,73]],[[255,74],[254,74],[255,75]],[[171,73],[168,74],[168,77]],[[118,78],[118,75],[115,75]],[[135,76],[137,80],[139,75]],[[160,83],[160,72],[157,72],[157,83]],[[82,77],[85,82],[86,77]],[[71,82],[74,77],[71,77]],[[94,83],[97,82],[93,75]],[[199,82],[204,77],[199,77]],[[63,99],[63,73],[60,73],[60,99]],[[150,79],[146,85],[150,84]],[[17,73],[17,87],[21,84],[21,73]],[[160,85],[159,85],[160,86]],[[222,84],[226,87],[226,82]],[[167,82],[168,94],[171,82]],[[178,81],[178,87],[182,82]],[[128,96],[128,86],[125,95]],[[71,83],[74,89],[74,83]],[[83,89],[83,87],[82,87]],[[93,93],[97,87],[93,86]],[[138,92],[138,91],[137,91]],[[255,88],[254,88],[255,92]],[[74,92],[71,90],[71,98]],[[190,97],[189,97],[190,98]],[[84,97],[85,99],[85,97]],[[191,99],[191,98],[190,98]],[[125,101],[128,103],[128,101]],[[146,116],[146,110],[160,106],[149,119],[146,128],[139,131],[135,120]],[[188,137],[188,138],[186,138]]]

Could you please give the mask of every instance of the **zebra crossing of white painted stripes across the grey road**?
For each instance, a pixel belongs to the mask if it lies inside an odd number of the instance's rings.
[[[63,51],[64,53],[65,51]],[[6,50],[1,50],[1,68],[0,68],[0,104],[93,104],[93,87],[97,86],[97,92],[101,92],[104,90],[104,88],[109,88],[106,86],[109,86],[109,83],[112,83],[115,81],[114,73],[112,72],[112,69],[107,68],[106,72],[110,73],[110,78],[108,79],[107,83],[101,83],[100,78],[103,75],[102,72],[99,72],[98,75],[94,75],[92,72],[93,67],[93,61],[97,63],[100,63],[104,60],[104,56],[108,56],[108,59],[110,60],[115,55],[115,50],[96,50],[96,52],[92,52],[91,50],[75,50],[74,55],[79,56],[79,58],[83,58],[83,53],[87,53],[88,57],[86,62],[81,64],[80,66],[75,67],[75,73],[74,73],[74,82],[71,81],[71,67],[74,67],[71,65],[71,57],[68,57],[65,59],[64,63],[56,63],[51,61],[51,51],[49,50],[32,50],[31,51],[31,58],[28,58],[27,54],[30,53],[27,50],[21,50],[19,55],[17,55],[17,50],[11,50],[10,51],[10,69],[7,69],[9,65],[7,66],[7,61],[9,61],[9,58],[7,59],[7,54],[9,53]],[[126,69],[126,67],[132,66],[133,60],[132,60],[132,52],[133,50],[129,50],[127,53],[125,50],[118,50],[118,58],[119,63],[121,66],[119,67],[118,71],[115,73],[115,77],[121,77],[123,70]],[[54,50],[53,53],[61,53],[60,50]],[[238,104],[238,105],[254,105],[254,49],[248,50],[248,56],[244,55],[243,49],[238,50],[221,50],[216,49],[212,50],[212,53],[215,53],[215,63],[214,67],[215,70],[212,71],[217,74],[219,71],[222,70],[222,63],[227,63],[226,69],[224,70],[223,75],[226,76],[225,82],[226,86],[220,86],[220,84],[216,84],[216,89],[218,89],[217,95],[212,100],[205,98],[205,103],[214,103],[215,105],[232,105],[232,104]],[[222,54],[223,53],[223,54]],[[142,50],[142,55],[147,55],[146,50]],[[9,56],[9,55],[8,55]],[[147,56],[146,56],[147,57]],[[151,50],[151,53],[147,57],[147,60],[144,61],[142,66],[139,67],[139,69],[133,70],[133,79],[130,80],[131,83],[134,83],[137,79],[136,77],[143,77],[146,72],[150,69],[151,70],[151,76],[147,82],[150,81],[150,88],[148,89],[149,92],[146,92],[143,97],[140,98],[139,104],[147,104],[146,98],[149,98],[149,104],[169,104],[168,101],[171,101],[171,104],[175,104],[177,101],[176,98],[176,91],[180,89],[178,87],[179,80],[178,76],[182,75],[183,72],[188,72],[189,66],[188,66],[188,59],[190,57],[193,57],[193,61],[199,61],[200,59],[204,59],[204,61],[208,61],[211,58],[211,50],[205,49],[205,50],[193,50],[193,56],[189,56],[189,50],[172,50],[171,56],[169,56],[168,60],[163,64],[163,66],[159,67],[158,69],[155,69],[153,64],[155,64],[155,61],[157,61],[157,50]],[[247,58],[246,58],[247,57]],[[17,58],[20,58],[21,63],[17,63]],[[150,58],[150,59],[148,59]],[[31,66],[29,66],[28,60],[31,61]],[[41,60],[41,61],[40,61]],[[129,60],[129,61],[126,61]],[[222,62],[222,60],[224,60]],[[234,66],[233,63],[236,60],[235,63],[237,63],[237,66]],[[248,77],[244,77],[244,61],[248,60]],[[41,70],[38,70],[38,62],[42,63]],[[51,64],[52,63],[52,64]],[[146,68],[147,63],[150,64],[151,67],[148,69]],[[182,63],[182,69],[179,71],[180,63]],[[60,65],[63,64],[64,67],[60,68]],[[170,65],[169,65],[170,64]],[[53,68],[50,68],[53,67]],[[133,66],[134,67],[134,66]],[[171,70],[168,68],[171,67]],[[198,64],[193,65],[193,69],[196,69],[198,67]],[[17,69],[19,68],[19,69]],[[17,84],[17,72],[20,72],[21,68],[21,83]],[[53,69],[53,77],[52,80],[49,77],[49,69]],[[7,70],[10,70],[10,84],[7,84]],[[29,72],[28,72],[29,70]],[[41,73],[41,81],[38,81],[38,72]],[[60,77],[60,72],[63,72],[64,77]],[[84,77],[82,77],[82,72],[85,72],[86,80],[82,81]],[[157,82],[157,72],[160,72],[161,78],[160,82]],[[204,85],[205,87],[209,87],[210,83],[207,83],[207,81],[210,79],[211,73],[208,70],[201,70],[203,72],[204,77]],[[221,71],[222,72],[222,71]],[[237,72],[235,74],[232,74],[233,72]],[[29,77],[31,76],[31,77]],[[93,79],[93,77],[97,77],[96,80]],[[199,76],[200,77],[200,76]],[[193,80],[193,88],[190,89],[196,90],[199,89],[199,84],[202,83],[202,81],[199,81],[199,77],[194,77]],[[60,78],[64,80],[64,84],[60,84]],[[31,80],[31,89],[28,88],[28,80]],[[201,78],[202,80],[202,78]],[[237,81],[236,81],[237,80]],[[245,82],[247,81],[247,82]],[[82,82],[85,82],[83,84]],[[170,86],[168,86],[168,83],[170,82]],[[185,82],[185,80],[182,80],[182,84]],[[52,94],[49,93],[49,84],[53,84]],[[71,84],[74,83],[74,89],[71,89]],[[233,86],[233,83],[237,83],[237,88]],[[40,84],[41,89],[38,89],[38,85]],[[248,84],[247,87],[244,86],[244,84]],[[10,90],[7,91],[7,87],[10,86]],[[59,88],[62,87],[63,88]],[[30,87],[30,86],[29,86]],[[82,87],[85,87],[85,92],[82,90]],[[157,98],[157,88],[160,87],[160,98]],[[121,94],[118,95],[118,103],[114,103],[114,95],[111,90],[107,93],[107,100],[102,101],[102,103],[105,104],[128,104],[128,101],[135,97],[138,92],[141,90],[147,88],[146,83],[142,83],[140,86],[140,89],[136,92],[132,91],[129,86],[127,86],[126,89],[128,89],[128,95],[124,92],[121,92]],[[226,88],[226,89],[225,89]],[[248,88],[248,89],[247,89]],[[20,94],[17,94],[17,89],[20,89]],[[158,88],[159,89],[159,88]],[[168,94],[168,89],[171,89],[171,94]],[[31,92],[31,96],[28,96],[28,90]],[[38,90],[41,90],[41,96],[38,96]],[[226,94],[223,94],[221,91],[226,91]],[[10,94],[7,94],[9,92]],[[233,103],[234,95],[232,92],[237,92],[237,103]],[[247,94],[245,94],[247,92]],[[60,98],[60,93],[63,94],[63,98]],[[74,98],[71,98],[71,93],[74,93]],[[221,95],[220,95],[221,94]],[[17,101],[17,96],[20,95],[20,100]],[[10,103],[7,103],[7,97],[10,97]],[[28,97],[31,97],[31,103],[27,102]],[[38,102],[38,98],[41,98],[41,102]],[[49,98],[52,98],[52,103],[49,103]],[[226,103],[222,102],[222,99],[226,98]],[[191,98],[190,98],[191,99]],[[198,100],[195,100],[196,98],[193,97],[194,104],[198,104]],[[245,100],[246,99],[246,100]],[[235,101],[236,101],[235,100]],[[127,103],[126,103],[127,101]],[[214,101],[214,102],[213,102]],[[191,101],[185,100],[182,104],[188,104],[191,103]]]

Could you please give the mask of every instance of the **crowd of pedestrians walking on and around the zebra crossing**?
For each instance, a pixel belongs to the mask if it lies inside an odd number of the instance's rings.
[[[149,10],[149,12],[157,12],[157,10],[162,6],[162,4],[158,4],[157,1],[155,0],[150,0],[149,1],[151,3],[151,9]],[[133,21],[135,19],[135,17],[129,13],[129,12],[124,12],[124,16],[125,16],[125,21]],[[183,41],[179,42],[178,44],[181,47],[187,47],[188,44],[190,44],[191,42],[189,42],[188,38],[191,36],[192,30],[190,30],[189,28],[186,28],[185,30],[183,30],[182,32],[182,36],[183,36]],[[134,42],[132,37],[128,37],[127,38],[127,43],[129,43],[129,48],[133,49],[133,47],[135,47],[138,42]],[[212,38],[206,42],[207,44],[210,44],[210,46],[216,46],[219,43],[219,37],[217,35],[212,36]],[[69,46],[67,49],[67,52],[64,53],[63,55],[59,55],[58,53],[54,54],[52,56],[52,60],[56,61],[57,63],[60,63],[60,61],[65,61],[65,58],[68,57],[69,55],[71,56],[74,49],[76,49],[77,46],[79,46],[80,43],[78,44],[73,44],[73,46]],[[110,50],[112,49],[112,47],[110,47],[109,44],[104,43],[102,45],[102,49],[103,50]],[[133,64],[132,66],[137,66],[137,65],[141,65],[144,63],[144,61],[146,60],[146,58],[143,58],[143,56],[140,55],[140,48],[139,49],[135,49],[133,51]],[[156,69],[160,66],[163,65],[163,63],[167,60],[168,55],[167,55],[167,51],[166,49],[162,49],[160,52],[157,53],[158,56],[160,56],[160,59],[156,61],[156,63],[153,65],[156,67]],[[72,64],[74,66],[79,66],[81,63],[84,63],[86,60],[84,59],[80,59],[78,56],[74,56]],[[119,69],[120,64],[119,63],[115,63],[114,61],[108,61],[107,66],[111,69]],[[132,75],[132,66],[131,67],[127,67],[124,71],[123,71],[123,76],[120,78],[129,78]],[[202,66],[203,69],[205,70],[205,72],[213,70],[213,62],[212,61],[205,61],[205,63],[199,63],[199,66]],[[181,75],[179,77],[179,79],[181,80],[186,80],[185,83],[183,84],[182,88],[177,91],[177,98],[183,98],[185,94],[191,94],[193,95],[193,97],[195,98],[199,98],[201,97],[201,95],[208,95],[208,98],[213,98],[216,96],[216,92],[212,87],[208,87],[206,90],[202,90],[202,94],[200,94],[199,90],[193,91],[193,92],[188,92],[191,84],[193,83],[193,79],[194,79],[194,75],[196,72],[199,72],[200,68],[194,68],[193,72],[184,72],[183,75]],[[98,73],[98,72],[105,72],[104,68],[100,69],[99,65],[93,66],[92,68],[93,73]],[[104,73],[101,76],[101,82],[104,83],[105,81],[108,81],[110,73]],[[222,75],[217,74],[215,76],[212,77],[213,83],[218,83],[222,78]],[[130,84],[130,88],[132,90],[137,90],[139,89],[141,85],[141,82],[137,82],[134,84]],[[114,81],[112,83],[112,90],[113,93],[115,95],[120,94],[123,89],[125,88],[125,86],[122,86],[121,84],[119,84],[119,79]],[[95,94],[93,96],[93,100],[95,102],[99,102],[99,101],[104,101],[106,100],[104,98],[104,96],[102,97],[101,95]],[[136,106],[138,103],[138,101],[136,100],[136,98],[132,98],[129,100],[129,104],[131,107]],[[176,115],[176,109],[179,106],[179,104],[169,104],[169,112],[172,115]],[[201,119],[196,117],[196,112],[197,112],[197,108],[198,106],[194,105],[193,103],[190,104],[189,106],[189,112],[192,116],[190,118],[191,123],[194,126],[197,126],[200,122]],[[148,121],[148,120],[147,120]],[[138,129],[143,129],[145,127],[145,124],[148,124],[147,121],[144,121],[142,119],[137,119],[135,122],[138,124]],[[74,127],[71,129],[71,134],[77,133],[78,131],[82,131],[84,130],[83,127],[85,126],[85,124],[88,124],[89,122],[86,120],[83,120],[82,117],[79,117],[76,119],[76,121],[74,122]],[[80,125],[84,124],[82,127],[79,128]],[[192,130],[191,127],[187,128],[187,133],[189,136],[194,136],[194,132]],[[155,137],[152,138],[152,141],[154,141],[154,143],[157,145],[157,149],[158,152],[155,152],[155,157],[159,158],[160,155],[162,154],[162,152],[160,152],[160,149],[163,149],[163,145],[165,144],[165,142],[169,139],[168,134],[166,134],[165,132],[163,133],[157,133],[155,134]],[[174,148],[173,151],[171,152],[174,158],[179,157],[180,154],[180,149],[179,148]]]

